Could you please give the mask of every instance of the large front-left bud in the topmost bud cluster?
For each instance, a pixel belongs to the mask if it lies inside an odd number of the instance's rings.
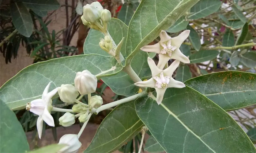
[[[88,22],[95,22],[99,19],[99,13],[97,8],[95,8],[93,5],[86,4],[83,7],[83,17]]]

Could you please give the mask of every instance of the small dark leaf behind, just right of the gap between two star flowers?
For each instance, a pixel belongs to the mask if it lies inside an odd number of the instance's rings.
[[[192,78],[192,74],[189,70],[188,65],[186,65],[186,64],[185,65],[180,65],[177,69],[175,79],[177,81],[184,82],[184,81],[186,81],[190,78]]]

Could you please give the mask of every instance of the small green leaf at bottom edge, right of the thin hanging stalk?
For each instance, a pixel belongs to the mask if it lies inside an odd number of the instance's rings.
[[[158,144],[157,140],[153,136],[150,136],[145,144],[144,148],[147,152],[150,153],[159,153],[159,152],[164,152],[163,148],[161,145]]]

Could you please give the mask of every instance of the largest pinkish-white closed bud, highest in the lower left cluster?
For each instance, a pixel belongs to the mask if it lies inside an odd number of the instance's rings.
[[[77,72],[75,77],[75,87],[81,95],[94,93],[97,87],[97,78],[90,71]]]

